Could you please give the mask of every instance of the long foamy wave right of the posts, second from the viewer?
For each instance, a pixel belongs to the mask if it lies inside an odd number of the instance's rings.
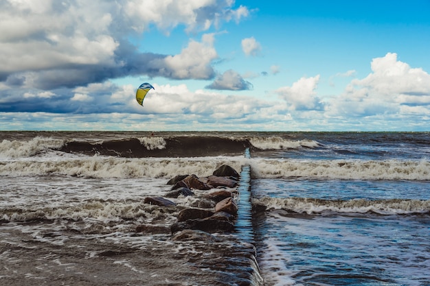
[[[254,178],[430,180],[429,160],[251,160]]]

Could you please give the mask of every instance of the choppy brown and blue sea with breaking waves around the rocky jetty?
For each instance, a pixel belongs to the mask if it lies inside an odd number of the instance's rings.
[[[429,132],[92,131],[0,132],[0,285],[216,285],[191,261],[234,259],[143,200],[220,165],[249,166],[252,239],[227,252],[252,243],[264,285],[430,285]]]

